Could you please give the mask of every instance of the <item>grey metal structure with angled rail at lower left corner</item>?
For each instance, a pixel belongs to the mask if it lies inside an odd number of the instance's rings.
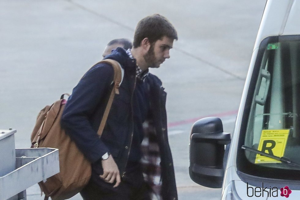
[[[58,149],[15,149],[16,130],[0,130],[0,200],[26,200],[26,189],[59,172]]]

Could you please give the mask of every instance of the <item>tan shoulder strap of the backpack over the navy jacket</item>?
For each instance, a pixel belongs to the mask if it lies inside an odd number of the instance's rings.
[[[100,61],[100,63],[107,63],[107,64],[111,65],[114,68],[114,80],[113,80],[114,87],[111,91],[111,95],[108,99],[107,106],[105,108],[105,111],[104,111],[99,129],[97,131],[97,134],[99,136],[102,135],[102,132],[103,132],[104,126],[106,124],[106,120],[107,120],[109,111],[111,109],[112,102],[114,100],[114,95],[119,94],[119,87],[122,83],[123,76],[124,76],[124,69],[122,69],[120,63],[118,63],[117,61],[112,60],[112,59],[105,59],[105,60]]]

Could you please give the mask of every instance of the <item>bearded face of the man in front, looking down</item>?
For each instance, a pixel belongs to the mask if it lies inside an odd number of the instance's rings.
[[[174,39],[163,36],[162,39],[157,40],[151,44],[148,52],[144,55],[144,59],[149,67],[159,68],[167,58],[170,58],[169,51],[173,47]]]

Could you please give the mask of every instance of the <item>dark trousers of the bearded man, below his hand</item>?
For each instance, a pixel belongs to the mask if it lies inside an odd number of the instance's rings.
[[[151,200],[150,187],[141,171],[126,172],[118,187],[103,180],[91,179],[80,192],[84,200]]]

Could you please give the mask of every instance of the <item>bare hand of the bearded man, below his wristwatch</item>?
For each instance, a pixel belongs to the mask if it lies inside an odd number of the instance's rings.
[[[120,172],[117,164],[114,162],[114,159],[111,155],[106,160],[101,161],[103,174],[100,175],[107,183],[114,183],[116,180],[116,184],[114,187],[117,187],[121,183]]]

